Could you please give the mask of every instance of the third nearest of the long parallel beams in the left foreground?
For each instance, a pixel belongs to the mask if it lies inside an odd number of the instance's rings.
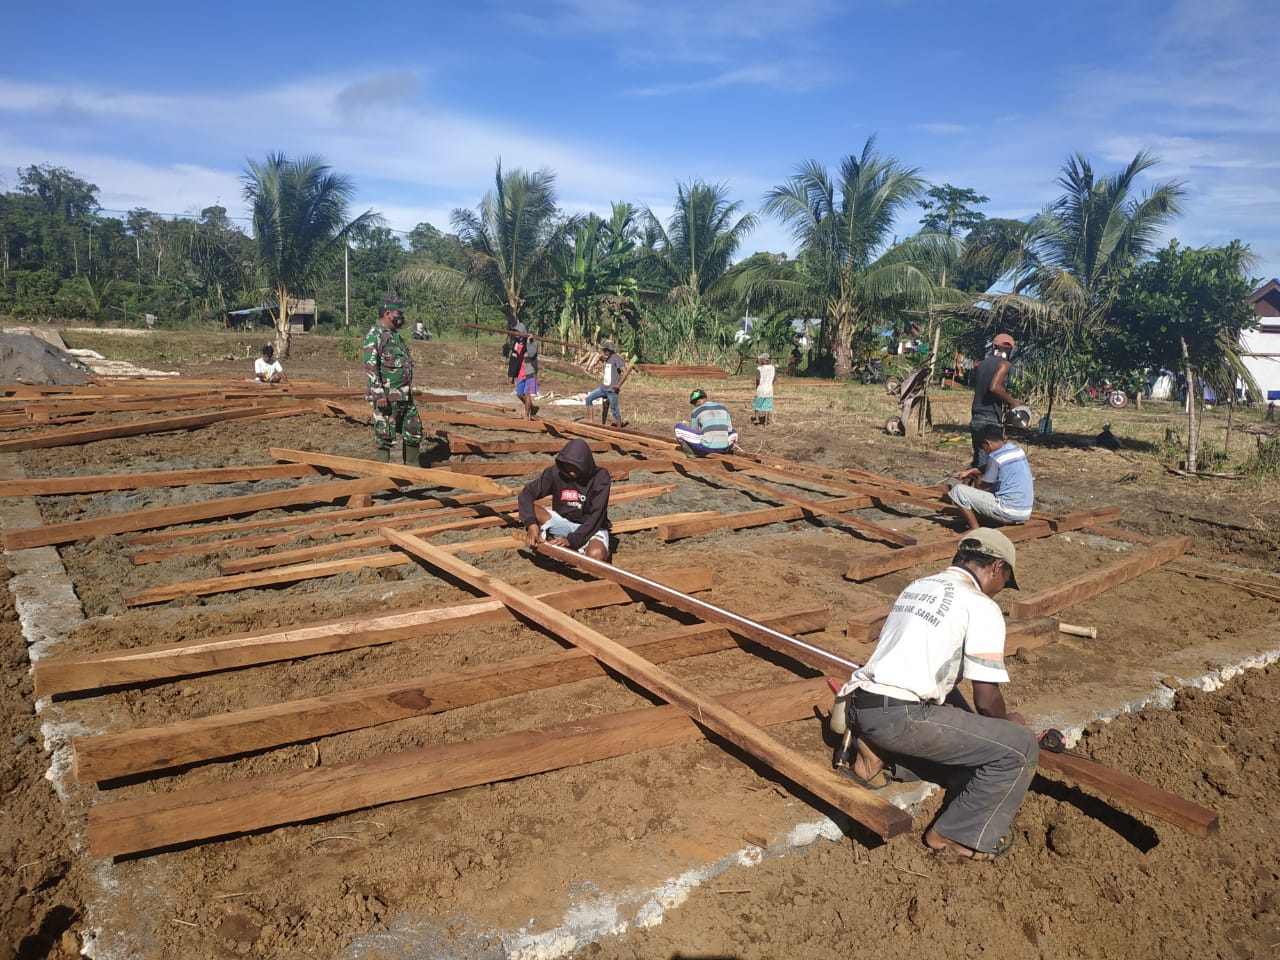
[[[708,567],[681,567],[650,576],[663,582],[680,584],[690,591],[712,588],[712,571]],[[639,594],[630,594],[612,581],[598,580],[557,588],[538,596],[568,611],[631,603]],[[45,657],[33,664],[36,695],[52,696],[156,680],[175,680],[198,673],[355,650],[361,646],[378,646],[508,620],[512,620],[511,611],[497,600],[465,600],[443,607],[424,607],[372,617],[346,617],[285,630],[259,630],[195,643],[157,644],[79,657]]]

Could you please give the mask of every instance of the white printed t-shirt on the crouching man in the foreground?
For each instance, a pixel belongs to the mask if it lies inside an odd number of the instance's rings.
[[[1009,682],[1005,617],[969,571],[947,567],[899,594],[876,653],[840,692],[940,704],[960,677]]]

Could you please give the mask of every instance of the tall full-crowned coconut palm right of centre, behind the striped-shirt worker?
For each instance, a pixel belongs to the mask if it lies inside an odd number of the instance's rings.
[[[895,219],[924,188],[914,168],[882,157],[868,137],[859,156],[841,160],[836,179],[809,160],[764,196],[764,211],[791,229],[800,261],[758,274],[753,285],[791,285],[797,298],[820,302],[836,376],[852,374],[855,344],[869,342],[893,306],[927,306],[933,293],[929,274],[945,234],[892,242]]]

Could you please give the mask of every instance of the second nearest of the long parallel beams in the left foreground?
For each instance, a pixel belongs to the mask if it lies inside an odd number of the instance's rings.
[[[778,613],[762,622],[797,632],[822,630],[827,608]],[[652,663],[666,663],[726,650],[736,641],[721,626],[694,623],[620,643]],[[163,727],[81,737],[72,745],[76,780],[93,783],[152,773],[600,676],[605,669],[599,660],[575,648]]]

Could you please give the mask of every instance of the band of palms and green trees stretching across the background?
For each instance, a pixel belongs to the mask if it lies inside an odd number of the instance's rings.
[[[96,324],[274,324],[315,297],[321,330],[361,332],[397,296],[411,320],[448,333],[517,321],[570,343],[613,338],[653,362],[736,365],[767,351],[801,371],[849,376],[901,339],[982,355],[997,329],[1019,339],[1019,389],[1047,401],[1087,383],[1176,365],[1226,384],[1248,321],[1248,247],[1155,251],[1184,186],[1137,182],[1138,154],[1096,174],[1068,160],[1061,193],[1027,220],[987,219],[987,197],[929,184],[874,138],[835,172],[817,161],[767,192],[759,212],[724,184],[677,184],[673,212],[614,202],[566,215],[550,170],[495,172],[451,232],[407,234],[352,215],[353,184],[319,157],[270,155],[243,175],[251,221],[104,210],[97,186],[33,165],[0,192],[0,315]],[[913,206],[919,229],[895,237]],[[785,223],[797,255],[744,256],[759,216]],[[1155,255],[1155,256],[1153,256]],[[987,293],[993,289],[1001,293]],[[244,315],[246,308],[261,308]],[[744,333],[741,319],[751,316]],[[1187,342],[1187,352],[1181,342]],[[803,347],[803,349],[801,349]]]

